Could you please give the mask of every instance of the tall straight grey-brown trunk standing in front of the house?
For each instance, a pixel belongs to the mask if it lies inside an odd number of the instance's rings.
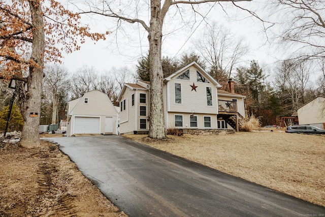
[[[165,139],[166,126],[163,103],[163,67],[161,66],[161,39],[163,19],[160,1],[151,0],[151,19],[149,28],[149,76],[150,76],[150,123],[148,136]],[[159,16],[160,15],[160,16]]]

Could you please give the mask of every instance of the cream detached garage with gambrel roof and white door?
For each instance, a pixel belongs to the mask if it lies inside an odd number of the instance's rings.
[[[92,90],[67,104],[67,135],[118,134],[118,112],[106,94]]]

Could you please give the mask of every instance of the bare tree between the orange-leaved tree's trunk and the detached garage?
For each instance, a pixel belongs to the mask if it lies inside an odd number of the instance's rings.
[[[45,66],[43,91],[51,93],[52,124],[58,123],[58,105],[60,98],[67,96],[69,88],[68,71],[58,65]],[[47,94],[47,93],[46,93]]]

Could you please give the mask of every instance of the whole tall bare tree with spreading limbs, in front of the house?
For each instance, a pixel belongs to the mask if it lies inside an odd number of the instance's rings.
[[[91,10],[84,13],[101,14],[106,17],[115,18],[118,20],[120,26],[121,21],[129,23],[138,23],[148,33],[149,42],[149,77],[150,77],[150,122],[148,136],[154,139],[166,138],[166,123],[164,117],[164,104],[163,104],[163,67],[161,65],[161,44],[163,38],[163,24],[169,9],[175,6],[177,12],[181,13],[181,5],[189,6],[184,10],[193,10],[199,16],[202,16],[198,10],[199,5],[204,3],[217,3],[217,2],[242,2],[250,0],[201,0],[201,1],[188,1],[179,0],[172,1],[166,0],[161,2],[160,0],[150,0],[148,8],[147,2],[143,7],[137,3],[133,7],[131,1],[102,1],[97,7],[92,6]],[[198,7],[197,7],[198,6]],[[148,16],[143,16],[141,19],[139,11],[147,11],[150,9],[150,21],[146,23]],[[196,14],[196,15],[197,15]],[[195,16],[194,16],[195,17]],[[193,19],[193,18],[192,18]]]

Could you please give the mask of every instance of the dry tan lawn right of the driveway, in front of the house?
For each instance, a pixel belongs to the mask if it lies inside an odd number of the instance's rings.
[[[218,136],[125,137],[325,206],[325,136],[239,132]]]

